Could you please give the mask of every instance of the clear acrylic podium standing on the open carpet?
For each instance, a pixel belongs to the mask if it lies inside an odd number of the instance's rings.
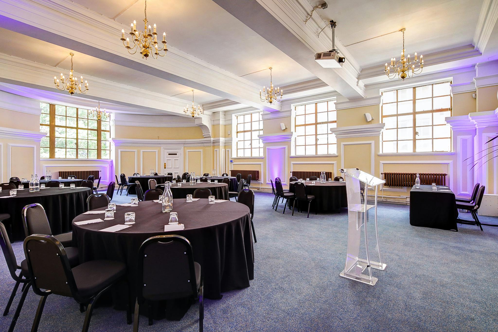
[[[374,177],[358,168],[341,169],[346,180],[346,193],[348,197],[348,253],[346,256],[346,267],[340,273],[341,277],[353,279],[369,285],[375,285],[377,278],[372,276],[372,268],[385,270],[386,264],[382,263],[377,231],[377,192],[378,186],[385,180]],[[375,200],[368,202],[368,190],[375,190]],[[372,204],[373,203],[373,204]],[[375,237],[377,239],[378,262],[370,260],[367,223],[369,211],[375,215]],[[360,241],[362,227],[365,230],[365,254],[366,259],[360,258]],[[368,274],[364,274],[368,270]]]

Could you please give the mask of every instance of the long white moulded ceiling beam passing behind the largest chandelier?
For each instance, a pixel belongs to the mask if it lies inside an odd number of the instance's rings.
[[[263,111],[281,110],[259,100],[256,84],[171,45],[163,59],[128,54],[120,38],[129,26],[70,0],[0,0],[0,26]]]

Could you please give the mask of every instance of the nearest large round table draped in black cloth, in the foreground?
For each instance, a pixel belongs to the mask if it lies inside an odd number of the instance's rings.
[[[100,231],[124,224],[126,212],[136,214],[131,227],[114,233]],[[185,229],[165,232],[169,213],[162,213],[161,204],[153,201],[139,202],[137,207],[118,206],[114,220],[86,225],[73,223],[73,241],[78,246],[80,262],[113,259],[126,263],[134,301],[140,245],[150,236],[178,234],[192,244],[194,260],[201,265],[204,275],[206,298],[220,299],[222,292],[249,287],[249,280],[254,277],[254,256],[248,207],[232,201],[208,204],[207,199],[190,203],[182,199],[173,201],[173,212],[178,213],[178,220]],[[101,217],[103,215],[80,215],[73,222]]]

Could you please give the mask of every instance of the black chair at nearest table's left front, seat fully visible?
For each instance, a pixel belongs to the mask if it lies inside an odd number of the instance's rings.
[[[29,275],[35,294],[41,296],[31,331],[38,331],[47,297],[51,294],[73,298],[80,308],[87,307],[83,332],[87,332],[94,305],[100,296],[119,281],[126,281],[126,265],[122,262],[99,259],[71,268],[67,249],[53,236],[34,234],[24,239]],[[129,294],[129,287],[128,287]],[[131,324],[129,303],[126,320]],[[52,327],[54,329],[54,327]]]

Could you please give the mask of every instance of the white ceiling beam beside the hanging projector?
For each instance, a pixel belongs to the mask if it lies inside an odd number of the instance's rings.
[[[304,0],[214,0],[253,31],[265,38],[287,56],[316,75],[320,80],[348,99],[365,97],[365,89],[358,80],[361,68],[336,37],[336,48],[346,63],[342,68],[323,68],[315,61],[315,54],[332,48],[332,31],[319,15],[304,24],[313,6]],[[330,30],[330,31],[329,31]]]

